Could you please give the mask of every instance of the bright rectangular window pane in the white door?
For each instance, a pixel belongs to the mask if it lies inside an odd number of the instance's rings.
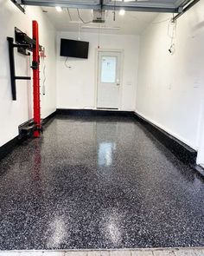
[[[117,56],[102,56],[101,82],[116,82]]]

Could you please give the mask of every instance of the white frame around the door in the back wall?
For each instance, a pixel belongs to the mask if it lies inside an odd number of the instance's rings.
[[[98,82],[99,82],[99,53],[100,52],[119,52],[120,58],[120,86],[119,86],[119,104],[118,109],[122,109],[122,91],[123,91],[123,70],[124,70],[124,49],[96,49],[95,51],[95,89],[94,89],[94,109],[97,109]],[[107,109],[108,110],[108,109]]]

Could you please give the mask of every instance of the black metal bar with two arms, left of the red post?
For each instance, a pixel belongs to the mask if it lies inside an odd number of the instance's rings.
[[[14,48],[15,47],[22,47],[28,48],[28,44],[15,44],[14,38],[7,37],[7,41],[9,43],[9,55],[10,55],[10,82],[11,82],[11,92],[12,92],[12,99],[16,101],[16,80],[30,80],[30,76],[16,76],[15,73],[15,61],[14,61]]]

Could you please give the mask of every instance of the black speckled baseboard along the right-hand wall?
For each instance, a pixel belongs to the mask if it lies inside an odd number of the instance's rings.
[[[197,152],[193,148],[190,148],[188,145],[176,139],[174,136],[169,135],[169,133],[164,131],[162,128],[158,128],[155,124],[146,120],[141,115],[135,113],[134,116],[136,120],[142,123],[143,126],[150,131],[150,133],[154,135],[158,141],[162,142],[166,148],[169,148],[169,150],[175,154],[177,158],[187,164],[195,165]]]

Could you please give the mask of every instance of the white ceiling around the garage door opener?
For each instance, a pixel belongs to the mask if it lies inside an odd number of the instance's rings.
[[[69,13],[66,8],[63,9],[62,12],[57,12],[54,7],[42,7],[42,10],[48,11],[45,15],[48,16],[48,19],[54,24],[54,27],[58,31],[78,31],[80,25],[81,32],[98,32],[98,27],[100,26],[106,28],[119,28],[119,30],[100,29],[101,33],[124,35],[140,34],[158,15],[158,13],[126,11],[124,16],[120,16],[118,11],[116,11],[116,20],[113,21],[113,11],[107,10],[105,23],[84,24],[80,22],[76,9],[68,9]],[[92,10],[80,10],[80,16],[85,22],[92,21]],[[83,29],[85,26],[93,26],[95,29]]]

